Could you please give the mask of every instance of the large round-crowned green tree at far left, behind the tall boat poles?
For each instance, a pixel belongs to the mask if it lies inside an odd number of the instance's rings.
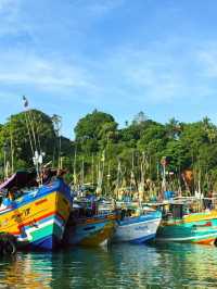
[[[12,115],[0,129],[0,147],[12,144],[15,163],[22,160],[26,166],[33,165],[35,150],[46,152],[46,161],[52,160],[54,139],[51,117],[37,110]]]

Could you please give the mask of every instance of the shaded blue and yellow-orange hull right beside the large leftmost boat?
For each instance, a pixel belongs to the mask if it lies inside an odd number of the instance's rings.
[[[69,246],[98,247],[106,243],[115,228],[115,214],[77,219],[66,227],[65,242]]]

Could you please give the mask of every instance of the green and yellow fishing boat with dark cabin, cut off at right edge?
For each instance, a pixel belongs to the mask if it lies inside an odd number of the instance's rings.
[[[217,210],[212,199],[182,198],[164,203],[157,241],[214,244],[217,240]]]

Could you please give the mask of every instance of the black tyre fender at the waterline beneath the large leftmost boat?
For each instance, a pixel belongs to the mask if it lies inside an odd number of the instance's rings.
[[[16,252],[16,238],[10,234],[0,234],[0,254],[13,255]]]

